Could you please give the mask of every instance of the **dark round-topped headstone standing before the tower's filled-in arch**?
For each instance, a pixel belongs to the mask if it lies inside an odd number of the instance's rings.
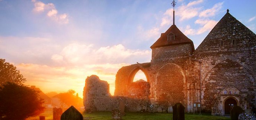
[[[185,107],[181,103],[173,106],[173,120],[185,120]]]

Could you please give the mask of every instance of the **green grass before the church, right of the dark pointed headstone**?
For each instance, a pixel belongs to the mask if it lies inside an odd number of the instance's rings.
[[[88,120],[112,120],[111,112],[84,113],[84,119]],[[125,113],[122,120],[172,120],[170,113]],[[209,114],[185,114],[185,120],[230,120],[224,116],[211,116]]]

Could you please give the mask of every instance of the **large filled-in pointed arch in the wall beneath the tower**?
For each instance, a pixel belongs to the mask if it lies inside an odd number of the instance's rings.
[[[175,103],[186,106],[186,79],[179,65],[173,62],[162,65],[154,77],[155,104],[160,104],[158,107],[165,110]]]

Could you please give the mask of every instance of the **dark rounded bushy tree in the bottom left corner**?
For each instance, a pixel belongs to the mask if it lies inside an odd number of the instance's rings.
[[[25,120],[45,109],[38,92],[24,85],[7,82],[0,86],[0,96],[1,120]]]

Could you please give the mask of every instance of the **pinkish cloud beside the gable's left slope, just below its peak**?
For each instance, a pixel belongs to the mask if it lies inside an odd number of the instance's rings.
[[[195,21],[196,24],[201,24],[203,27],[199,28],[196,34],[202,34],[206,31],[210,31],[218,21],[215,20],[206,20],[206,19],[198,19]]]

